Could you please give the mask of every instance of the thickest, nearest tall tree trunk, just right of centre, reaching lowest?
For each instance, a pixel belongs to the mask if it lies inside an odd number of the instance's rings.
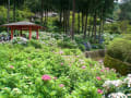
[[[75,24],[75,0],[73,0],[73,5],[72,5],[72,27],[71,27],[71,38],[72,40],[74,39],[74,24]]]

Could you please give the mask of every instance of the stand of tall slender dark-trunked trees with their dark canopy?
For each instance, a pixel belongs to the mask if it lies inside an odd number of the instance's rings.
[[[4,4],[8,10],[11,5],[14,22],[15,10],[25,7],[40,14],[41,25],[48,23],[48,12],[56,12],[63,33],[71,35],[72,39],[75,34],[83,33],[83,38],[95,40],[97,36],[100,39],[105,21],[114,11],[115,0],[0,0],[0,4]]]

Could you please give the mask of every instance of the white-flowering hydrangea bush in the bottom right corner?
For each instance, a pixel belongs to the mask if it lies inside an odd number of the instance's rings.
[[[103,87],[105,96],[108,96],[109,98],[128,98],[128,96],[131,97],[131,74],[122,79],[106,81]]]

